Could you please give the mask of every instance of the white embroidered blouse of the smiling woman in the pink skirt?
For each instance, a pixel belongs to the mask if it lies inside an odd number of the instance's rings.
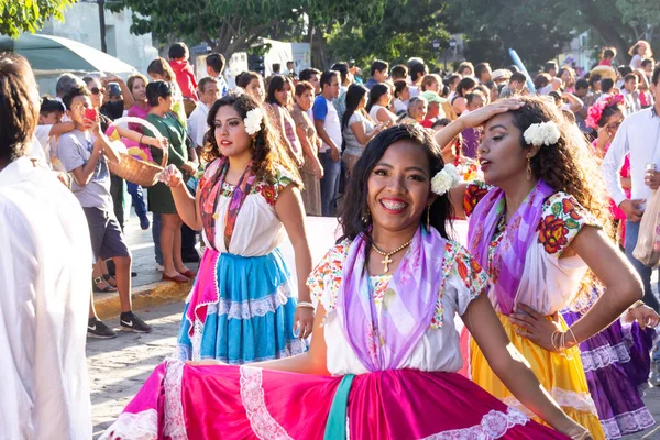
[[[333,375],[367,372],[345,339],[336,314],[337,295],[343,279],[343,264],[350,244],[349,240],[344,240],[332,248],[307,280],[312,298],[322,304],[327,311],[323,328],[328,346],[328,371]],[[433,319],[404,367],[457,372],[463,365],[454,318],[463,315],[470,301],[486,290],[488,280],[468,251],[451,241],[447,241],[442,274]],[[378,314],[382,312],[384,293],[391,279],[391,275],[370,277]]]

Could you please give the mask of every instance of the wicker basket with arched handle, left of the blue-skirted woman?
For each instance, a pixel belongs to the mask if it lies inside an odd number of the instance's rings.
[[[141,125],[146,127],[152,133],[154,133],[156,138],[163,138],[163,135],[158,132],[158,130],[155,127],[140,118],[120,118],[114,120],[114,122],[112,122],[111,125],[116,125],[122,122],[139,123]],[[119,142],[121,144],[120,151],[125,151],[125,145],[123,145],[121,141],[113,142]],[[163,170],[163,168],[165,168],[165,166],[167,166],[167,150],[163,150],[163,161],[158,166],[151,162],[141,161],[127,153],[120,152],[119,156],[121,157],[121,162],[119,164],[114,164],[108,161],[108,166],[112,174],[123,178],[124,180],[129,180],[142,187],[150,187],[158,183],[158,174]]]

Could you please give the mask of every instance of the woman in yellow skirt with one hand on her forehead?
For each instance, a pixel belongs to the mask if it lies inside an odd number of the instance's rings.
[[[641,287],[603,231],[608,210],[600,172],[584,138],[541,98],[503,100],[470,112],[436,140],[443,145],[480,125],[485,183],[451,194],[457,216],[470,217],[469,249],[491,276],[488,297],[514,346],[562,409],[604,439],[573,348],[617,319],[641,297]],[[607,289],[569,328],[558,312],[576,299],[588,270]],[[471,341],[472,380],[525,411],[477,342]]]

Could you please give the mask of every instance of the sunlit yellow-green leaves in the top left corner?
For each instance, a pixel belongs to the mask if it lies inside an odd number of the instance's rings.
[[[64,10],[76,0],[0,0],[0,34],[35,33],[51,16],[64,20]]]

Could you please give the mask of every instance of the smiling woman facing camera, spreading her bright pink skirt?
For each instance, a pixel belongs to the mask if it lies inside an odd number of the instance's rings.
[[[143,439],[591,439],[510,346],[485,273],[448,239],[458,176],[428,131],[383,131],[354,172],[344,237],[308,280],[309,351],[241,367],[163,364],[103,439],[133,439],[139,426]],[[563,433],[455,373],[457,314],[516,396]]]

